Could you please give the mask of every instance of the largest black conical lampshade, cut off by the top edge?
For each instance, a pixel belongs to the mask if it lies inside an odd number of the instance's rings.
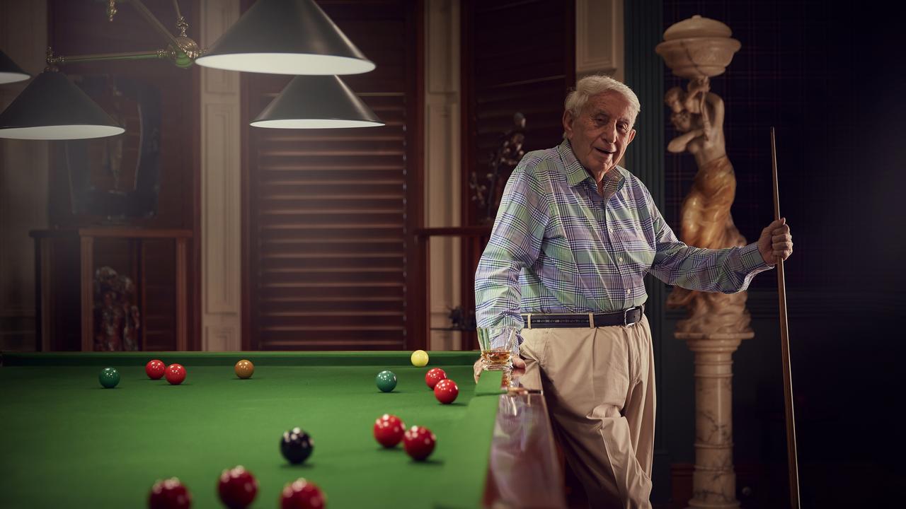
[[[195,62],[272,74],[359,74],[375,67],[313,0],[258,0]]]

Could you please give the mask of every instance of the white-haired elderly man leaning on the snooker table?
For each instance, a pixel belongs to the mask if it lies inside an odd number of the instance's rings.
[[[521,331],[514,364],[525,369],[525,385],[545,389],[558,441],[593,507],[651,507],[645,274],[736,293],[793,252],[783,219],[745,247],[680,242],[648,189],[617,166],[639,110],[621,82],[589,76],[576,84],[563,143],[525,154],[516,167],[475,275],[478,326]]]

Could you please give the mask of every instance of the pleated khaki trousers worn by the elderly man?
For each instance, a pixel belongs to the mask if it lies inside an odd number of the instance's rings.
[[[654,351],[631,327],[523,329],[522,383],[544,389],[554,433],[592,507],[651,508]]]

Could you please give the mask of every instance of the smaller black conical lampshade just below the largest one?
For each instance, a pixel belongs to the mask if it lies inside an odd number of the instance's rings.
[[[296,76],[252,125],[276,129],[333,129],[384,125],[336,76]]]

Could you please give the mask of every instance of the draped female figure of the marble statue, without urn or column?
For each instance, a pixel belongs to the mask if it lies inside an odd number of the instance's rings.
[[[679,238],[687,245],[720,249],[746,245],[730,216],[736,176],[724,140],[724,101],[710,91],[708,77],[689,82],[687,91],[673,87],[664,96],[670,121],[679,136],[670,140],[672,153],[689,152],[699,166],[682,203]],[[667,305],[685,307],[689,315],[677,322],[678,332],[735,333],[751,331],[747,293],[702,293],[673,289]]]

